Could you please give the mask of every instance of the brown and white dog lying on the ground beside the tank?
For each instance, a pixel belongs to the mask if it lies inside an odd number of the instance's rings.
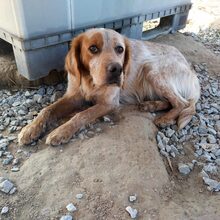
[[[37,140],[52,121],[80,110],[53,130],[46,144],[67,143],[82,126],[119,105],[134,104],[148,112],[168,110],[154,123],[185,127],[195,114],[199,80],[174,47],[127,39],[110,29],[90,29],[75,37],[65,59],[68,87],[62,98],[44,108],[18,135],[21,145]]]

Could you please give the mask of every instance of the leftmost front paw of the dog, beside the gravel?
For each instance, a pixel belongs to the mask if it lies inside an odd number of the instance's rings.
[[[26,145],[37,140],[40,137],[41,133],[44,131],[44,128],[44,123],[38,123],[36,121],[25,126],[18,134],[18,144]]]

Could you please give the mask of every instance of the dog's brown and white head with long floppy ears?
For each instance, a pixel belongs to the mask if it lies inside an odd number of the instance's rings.
[[[130,62],[128,40],[109,29],[90,29],[71,43],[65,68],[80,85],[83,75],[90,74],[95,86],[122,86]]]

